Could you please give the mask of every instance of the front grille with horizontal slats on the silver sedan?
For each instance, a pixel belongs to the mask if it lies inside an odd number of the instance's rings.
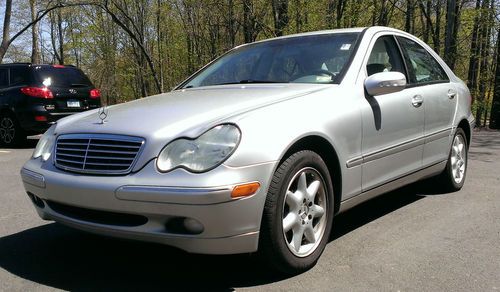
[[[94,174],[125,174],[131,171],[144,139],[120,135],[70,134],[57,139],[58,168]]]

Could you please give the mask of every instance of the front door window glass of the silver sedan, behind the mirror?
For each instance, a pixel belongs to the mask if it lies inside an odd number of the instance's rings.
[[[380,72],[401,72],[406,75],[403,59],[393,36],[382,36],[373,45],[366,72],[368,76]]]

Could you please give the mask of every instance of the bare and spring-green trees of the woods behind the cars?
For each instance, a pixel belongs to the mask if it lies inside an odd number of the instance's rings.
[[[3,0],[0,62],[73,64],[115,104],[171,90],[234,46],[382,25],[427,42],[500,128],[500,0]]]

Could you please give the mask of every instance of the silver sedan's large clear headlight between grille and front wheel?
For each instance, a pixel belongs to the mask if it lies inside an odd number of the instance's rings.
[[[162,172],[183,167],[191,172],[215,168],[234,152],[240,142],[240,130],[231,124],[216,126],[200,137],[177,139],[160,152],[156,165]]]

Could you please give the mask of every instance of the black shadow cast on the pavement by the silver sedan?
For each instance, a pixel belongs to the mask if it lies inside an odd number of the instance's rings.
[[[421,193],[420,184],[411,185],[339,215],[331,240],[424,198]],[[163,245],[87,234],[56,223],[0,238],[0,267],[65,290],[176,287],[230,291],[283,279],[266,271],[255,255],[194,255]]]

